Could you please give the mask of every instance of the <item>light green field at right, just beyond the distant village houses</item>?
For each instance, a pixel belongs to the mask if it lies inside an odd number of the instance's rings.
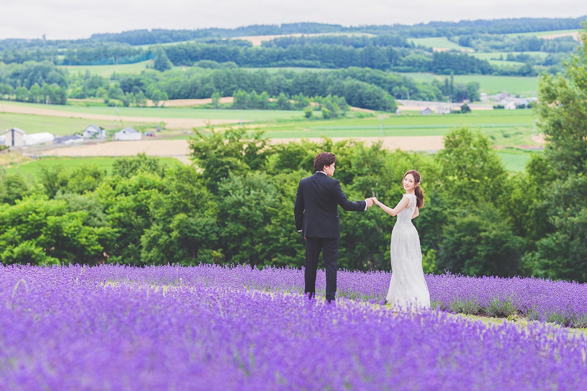
[[[450,75],[438,75],[432,73],[400,73],[404,76],[412,77],[416,81],[430,83],[432,80],[450,79]],[[480,91],[488,94],[497,94],[508,92],[510,94],[531,97],[536,96],[538,92],[538,77],[525,76],[494,76],[490,74],[456,74],[454,75],[455,83],[466,84],[469,81],[477,81]]]

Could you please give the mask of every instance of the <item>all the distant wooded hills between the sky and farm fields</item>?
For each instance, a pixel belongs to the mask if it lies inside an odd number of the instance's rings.
[[[352,106],[386,111],[396,107],[394,98],[474,100],[478,94],[474,83],[453,85],[448,75],[559,72],[561,61],[579,45],[576,40],[517,34],[579,30],[584,19],[587,17],[360,27],[289,23],[236,29],[132,30],[78,40],[5,39],[0,40],[0,99],[65,104],[68,97],[98,97],[113,105],[140,106],[147,98],[165,101],[254,92],[275,98],[280,94],[286,98],[338,95]],[[260,46],[235,39],[294,33],[302,36],[277,37]],[[426,38],[446,39],[476,53],[507,53],[502,63],[518,66],[496,64],[463,50],[437,51],[424,44]],[[153,60],[153,69],[140,75],[113,73],[107,78],[71,74],[59,67],[145,60]],[[197,70],[182,73],[177,67]],[[261,70],[267,67],[285,70],[271,74]],[[321,72],[288,72],[292,67]],[[416,83],[398,72],[441,74],[447,80],[444,84]]]

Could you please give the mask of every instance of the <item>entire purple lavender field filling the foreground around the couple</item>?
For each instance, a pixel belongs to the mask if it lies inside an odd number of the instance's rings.
[[[341,271],[332,306],[290,268],[0,266],[0,389],[587,387],[585,284],[427,276],[437,310],[410,315],[380,305],[389,278]]]

